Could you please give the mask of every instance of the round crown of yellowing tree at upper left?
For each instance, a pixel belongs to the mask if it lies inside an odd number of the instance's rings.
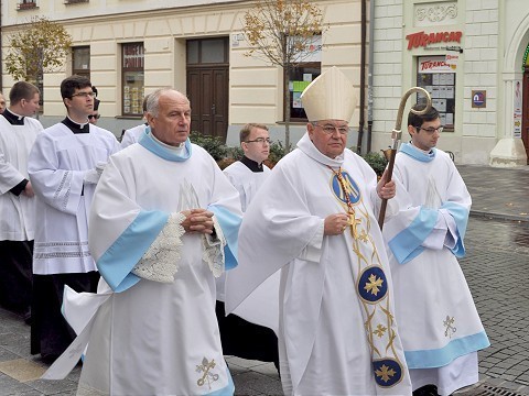
[[[10,35],[6,70],[15,80],[41,82],[44,73],[63,67],[71,52],[72,36],[63,25],[44,16],[31,19],[28,28]]]

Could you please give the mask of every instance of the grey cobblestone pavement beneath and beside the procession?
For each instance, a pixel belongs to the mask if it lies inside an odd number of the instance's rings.
[[[461,266],[492,346],[479,352],[481,383],[457,396],[529,395],[529,167],[460,172],[474,200]],[[226,360],[236,395],[281,395],[271,363]],[[79,367],[64,381],[39,380],[45,369],[30,355],[30,328],[0,309],[0,396],[75,395]]]

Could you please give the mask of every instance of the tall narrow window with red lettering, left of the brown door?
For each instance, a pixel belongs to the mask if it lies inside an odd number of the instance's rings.
[[[122,114],[142,116],[143,43],[122,44]]]

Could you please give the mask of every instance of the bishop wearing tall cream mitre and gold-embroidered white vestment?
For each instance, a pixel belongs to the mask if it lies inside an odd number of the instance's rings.
[[[395,183],[377,184],[369,165],[346,148],[356,95],[342,72],[319,76],[302,102],[306,134],[242,218],[227,310],[281,270],[279,290],[262,310],[276,309],[285,395],[409,395],[377,226],[380,198],[395,196]]]

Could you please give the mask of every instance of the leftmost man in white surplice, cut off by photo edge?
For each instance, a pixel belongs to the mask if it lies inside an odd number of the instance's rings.
[[[10,106],[0,116],[0,305],[30,322],[35,198],[28,155],[43,130],[33,119],[40,91],[18,81],[9,98]]]

